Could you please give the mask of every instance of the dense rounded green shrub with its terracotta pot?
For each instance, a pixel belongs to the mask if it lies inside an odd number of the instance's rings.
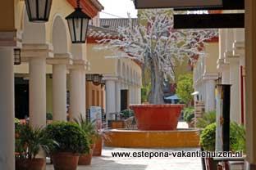
[[[57,141],[57,145],[50,148],[55,170],[75,170],[80,154],[89,153],[89,138],[75,123],[51,123],[46,128],[46,134]]]

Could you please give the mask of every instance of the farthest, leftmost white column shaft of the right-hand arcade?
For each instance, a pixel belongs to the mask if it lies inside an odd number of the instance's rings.
[[[205,101],[205,111],[216,110],[215,107],[215,80],[207,79],[206,80],[206,101]]]

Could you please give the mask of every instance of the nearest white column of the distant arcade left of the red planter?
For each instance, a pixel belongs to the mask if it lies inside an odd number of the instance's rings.
[[[116,112],[116,83],[115,80],[106,80],[106,113],[107,120],[115,119],[114,115],[111,113]]]

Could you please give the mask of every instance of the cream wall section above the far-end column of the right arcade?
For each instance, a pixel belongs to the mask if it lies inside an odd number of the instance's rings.
[[[206,56],[204,58],[206,74],[217,74],[218,42],[207,43],[204,47]]]

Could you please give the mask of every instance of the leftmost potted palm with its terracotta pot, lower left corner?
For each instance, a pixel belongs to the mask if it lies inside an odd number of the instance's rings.
[[[35,158],[39,150],[48,152],[53,140],[45,136],[43,128],[16,124],[16,170],[42,170],[45,159]]]

